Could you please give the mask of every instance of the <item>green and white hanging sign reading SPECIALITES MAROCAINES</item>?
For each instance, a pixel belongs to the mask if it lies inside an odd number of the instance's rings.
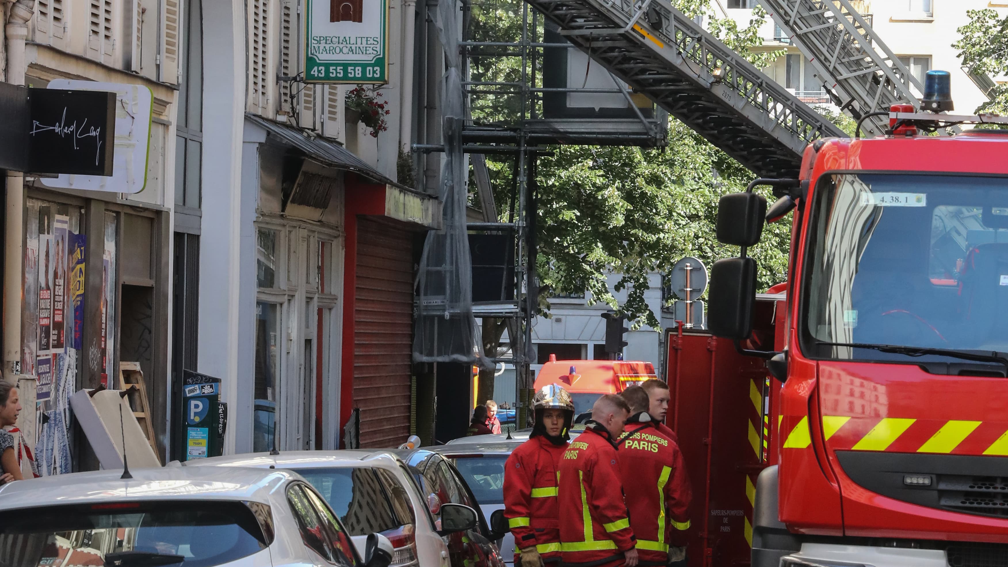
[[[388,83],[387,0],[307,0],[304,81]]]

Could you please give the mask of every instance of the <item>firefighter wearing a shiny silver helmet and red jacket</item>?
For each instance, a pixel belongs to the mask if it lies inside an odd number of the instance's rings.
[[[550,384],[535,392],[532,408],[532,433],[504,465],[504,518],[514,536],[515,567],[560,562],[556,471],[571,440],[574,402]]]

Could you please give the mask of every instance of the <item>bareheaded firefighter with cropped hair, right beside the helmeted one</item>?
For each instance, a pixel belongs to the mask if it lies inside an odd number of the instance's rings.
[[[634,534],[623,502],[615,441],[630,410],[616,394],[599,398],[585,432],[559,466],[560,549],[564,567],[637,565]]]

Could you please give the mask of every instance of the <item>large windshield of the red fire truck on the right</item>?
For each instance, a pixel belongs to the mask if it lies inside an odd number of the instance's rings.
[[[905,360],[836,343],[1008,350],[1008,180],[834,175],[815,189],[812,214],[810,352]]]

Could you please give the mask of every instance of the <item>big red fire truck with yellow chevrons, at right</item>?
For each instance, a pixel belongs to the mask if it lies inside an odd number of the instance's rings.
[[[712,332],[666,342],[691,567],[1008,566],[1008,131],[926,135],[1008,120],[889,117],[721,201],[741,253],[712,268]],[[788,281],[757,295],[746,249],[792,210]]]

